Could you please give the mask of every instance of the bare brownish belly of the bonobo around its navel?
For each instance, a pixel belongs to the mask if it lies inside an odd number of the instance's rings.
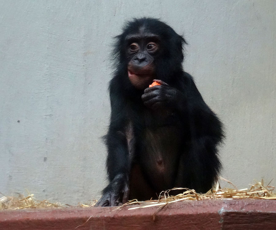
[[[145,129],[138,161],[144,176],[156,193],[173,188],[178,170],[180,145],[179,127]]]

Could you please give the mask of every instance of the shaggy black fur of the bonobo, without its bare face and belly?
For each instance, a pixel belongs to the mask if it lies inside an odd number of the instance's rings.
[[[137,33],[140,28],[161,37],[162,51],[154,57],[155,73],[156,79],[164,81],[169,86],[160,87],[160,98],[166,92],[174,95],[171,103],[162,105],[162,111],[172,111],[165,119],[159,119],[159,112],[145,106],[141,99],[144,92],[134,88],[128,79],[125,37]],[[102,199],[97,206],[118,205],[129,198],[130,178],[136,176],[131,175],[134,165],[140,167],[145,183],[154,193],[173,187],[207,192],[220,171],[217,146],[224,135],[220,120],[202,99],[192,76],[182,70],[182,48],[186,41],[170,26],[153,18],[134,19],[128,22],[123,28],[123,33],[116,39],[113,52],[116,71],[109,85],[111,118],[109,131],[105,136],[109,185],[103,190]],[[166,100],[169,101],[167,98]],[[132,135],[135,143],[133,153],[129,153],[127,141],[129,133],[126,133],[126,127],[129,122],[133,127]],[[148,130],[155,131],[155,127],[166,126],[176,128],[176,132],[164,138],[168,143],[164,145],[167,150],[178,149],[178,152],[165,164],[165,170],[170,173],[160,174],[161,176],[152,175],[149,165],[151,161],[147,161],[144,157],[148,156],[144,151],[151,143],[145,138],[144,133]],[[158,141],[162,135],[166,135],[164,131],[157,133],[153,140]],[[174,139],[179,139],[180,144],[170,147],[169,143],[173,143]],[[155,177],[156,183],[153,179]],[[158,182],[159,179],[167,182]],[[151,192],[141,193],[137,194],[130,187],[131,198],[150,199],[152,196]]]

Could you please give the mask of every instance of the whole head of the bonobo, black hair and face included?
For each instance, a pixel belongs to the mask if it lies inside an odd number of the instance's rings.
[[[124,76],[136,89],[144,90],[159,79],[170,83],[182,70],[184,38],[167,24],[153,18],[134,19],[117,38],[114,55]]]

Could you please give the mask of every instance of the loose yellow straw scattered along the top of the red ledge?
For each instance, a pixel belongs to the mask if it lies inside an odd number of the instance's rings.
[[[227,181],[226,179],[220,177],[221,180]],[[163,191],[159,195],[158,200],[149,200],[149,201],[137,201],[132,200],[128,201],[128,203],[118,207],[121,208],[126,205],[140,204],[139,207],[132,207],[131,209],[139,209],[139,208],[147,208],[152,206],[163,206],[184,200],[192,200],[192,201],[201,201],[201,200],[209,200],[209,199],[265,199],[265,200],[276,200],[276,193],[274,193],[274,186],[271,186],[270,183],[268,185],[264,185],[263,180],[261,182],[257,182],[252,184],[250,189],[237,189],[235,185],[230,183],[234,189],[230,188],[220,188],[219,183],[217,182],[216,187],[210,189],[207,193],[201,194],[197,193],[194,189],[186,189],[186,188],[174,188],[167,191]],[[271,181],[270,181],[271,182]],[[170,196],[170,192],[173,190],[183,190],[182,193],[176,196]],[[2,194],[2,193],[0,193]],[[3,194],[2,194],[3,195]],[[0,210],[2,209],[32,209],[32,208],[64,208],[64,207],[72,207],[67,204],[51,203],[47,200],[37,200],[33,197],[33,194],[29,194],[28,196],[23,196],[22,194],[18,194],[15,196],[4,196],[0,198]],[[89,204],[78,204],[78,207],[92,207],[95,205],[97,201],[90,201]]]

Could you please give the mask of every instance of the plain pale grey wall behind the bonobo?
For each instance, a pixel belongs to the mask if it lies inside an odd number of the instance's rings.
[[[273,0],[0,0],[0,192],[99,197],[112,37],[141,16],[188,41],[184,68],[225,124],[222,176],[275,178],[275,12]]]

